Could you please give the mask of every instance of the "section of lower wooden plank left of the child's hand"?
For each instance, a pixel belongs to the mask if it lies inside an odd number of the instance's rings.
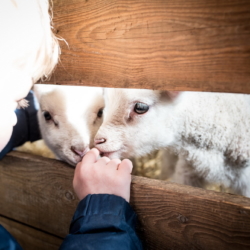
[[[67,164],[20,152],[0,161],[0,215],[65,237],[78,204]]]

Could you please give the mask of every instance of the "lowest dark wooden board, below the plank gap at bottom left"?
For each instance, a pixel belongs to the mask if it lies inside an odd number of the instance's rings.
[[[24,250],[58,250],[63,239],[41,232],[0,216],[0,224],[8,230]]]

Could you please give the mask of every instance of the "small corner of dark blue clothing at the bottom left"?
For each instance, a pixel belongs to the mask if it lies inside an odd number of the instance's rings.
[[[12,235],[0,225],[0,250],[22,250]]]

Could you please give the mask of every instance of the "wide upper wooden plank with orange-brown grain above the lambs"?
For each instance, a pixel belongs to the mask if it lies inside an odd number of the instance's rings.
[[[49,83],[250,93],[248,0],[54,0]]]

